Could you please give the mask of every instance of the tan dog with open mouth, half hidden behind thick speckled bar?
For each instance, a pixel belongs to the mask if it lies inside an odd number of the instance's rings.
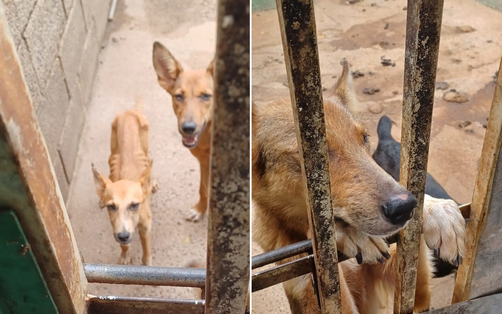
[[[169,50],[155,42],[153,64],[160,86],[173,98],[183,145],[190,148],[200,164],[200,198],[187,217],[198,221],[207,209],[214,60],[207,69],[184,70]]]

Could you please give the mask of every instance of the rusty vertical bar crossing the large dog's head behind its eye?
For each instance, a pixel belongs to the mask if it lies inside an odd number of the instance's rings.
[[[311,0],[277,0],[298,150],[309,207],[323,313],[340,313],[340,282],[331,203],[319,56]]]

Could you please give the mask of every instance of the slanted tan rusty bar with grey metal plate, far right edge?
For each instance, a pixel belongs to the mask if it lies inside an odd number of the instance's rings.
[[[452,303],[465,301],[502,289],[500,276],[500,224],[502,210],[502,60],[493,92],[488,126],[484,135],[481,159],[472,195],[467,223],[466,250],[458,268]],[[491,217],[489,219],[488,217]],[[489,240],[488,240],[489,239]],[[474,267],[476,265],[476,267]]]

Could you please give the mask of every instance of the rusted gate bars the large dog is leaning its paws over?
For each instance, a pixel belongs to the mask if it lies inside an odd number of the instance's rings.
[[[309,204],[308,215],[314,232],[313,239],[254,256],[252,269],[302,253],[310,254],[255,272],[252,275],[252,291],[313,273],[313,278],[317,278],[313,283],[322,312],[341,313],[337,263],[347,257],[333,253],[337,251],[313,1],[276,0],[276,3]],[[400,275],[396,284],[394,313],[413,312],[442,12],[443,0],[408,1],[400,183],[417,198],[418,205],[397,243]],[[470,218],[467,226],[468,255],[459,268],[453,303],[465,302],[429,311],[431,313],[502,311],[498,309],[502,308],[502,294],[494,294],[502,288],[502,263],[494,261],[502,250],[502,240],[499,240],[502,222],[486,218],[490,213],[492,217],[499,217],[497,215],[502,210],[502,201],[490,198],[490,195],[502,195],[502,166],[497,167],[496,164],[502,140],[502,71],[498,73],[472,210],[470,203],[460,207],[464,218]],[[319,151],[323,153],[319,154]],[[489,222],[485,226],[486,221]],[[496,247],[485,243],[493,233],[499,235]],[[485,242],[479,242],[480,237]],[[483,245],[482,249],[478,242]],[[480,251],[483,259],[476,260],[475,264],[474,257],[477,252],[479,258]],[[489,282],[488,278],[495,264],[494,271],[498,270],[496,283]],[[470,300],[482,295],[489,296]],[[472,311],[474,308],[477,311]],[[479,308],[482,310],[479,311]]]

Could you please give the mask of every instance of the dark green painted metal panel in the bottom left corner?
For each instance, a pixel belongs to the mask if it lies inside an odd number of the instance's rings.
[[[58,314],[12,210],[0,210],[0,314]]]

